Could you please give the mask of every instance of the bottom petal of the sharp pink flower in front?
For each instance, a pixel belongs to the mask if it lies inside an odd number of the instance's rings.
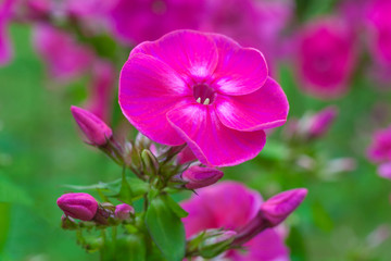
[[[212,105],[186,104],[169,111],[167,119],[206,165],[240,164],[253,159],[266,141],[263,130],[244,133],[224,126]]]

